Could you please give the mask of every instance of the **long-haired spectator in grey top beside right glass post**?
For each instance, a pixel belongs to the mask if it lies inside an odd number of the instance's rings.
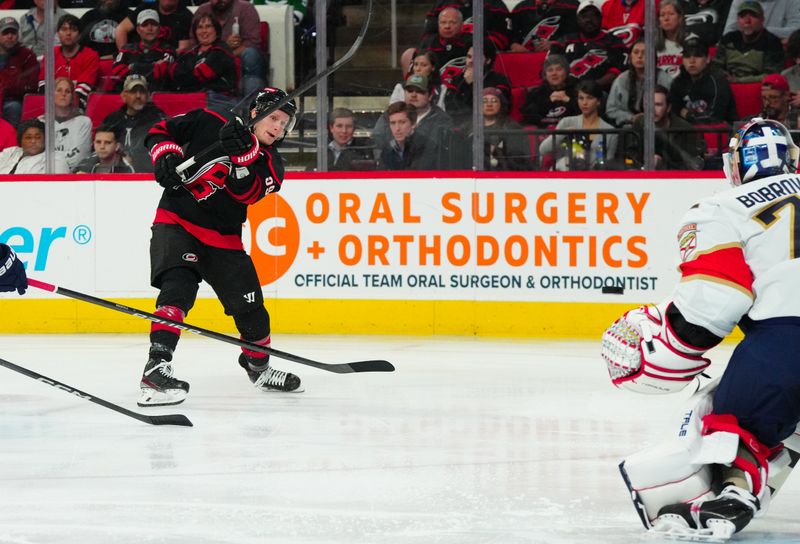
[[[663,7],[664,3],[661,5]],[[643,39],[633,43],[628,55],[628,69],[611,84],[606,103],[606,116],[618,127],[630,125],[644,114],[642,95],[644,94],[644,65],[647,62],[645,47]],[[650,55],[650,62],[652,61],[653,55]],[[662,70],[656,71],[656,78],[657,83],[664,87],[672,84],[670,76]]]

